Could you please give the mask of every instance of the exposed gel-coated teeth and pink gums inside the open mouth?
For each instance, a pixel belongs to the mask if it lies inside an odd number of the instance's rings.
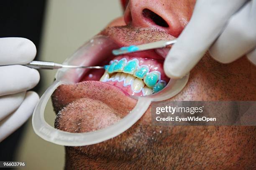
[[[151,95],[162,90],[169,78],[164,74],[164,60],[119,55],[104,70],[91,70],[81,81],[96,80],[119,87],[129,95]]]

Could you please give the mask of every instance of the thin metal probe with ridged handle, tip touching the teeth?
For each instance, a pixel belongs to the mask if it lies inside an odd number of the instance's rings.
[[[34,69],[49,69],[49,70],[54,70],[58,68],[96,68],[96,69],[104,68],[102,66],[62,65],[56,62],[51,62],[51,61],[31,61],[24,65]]]

